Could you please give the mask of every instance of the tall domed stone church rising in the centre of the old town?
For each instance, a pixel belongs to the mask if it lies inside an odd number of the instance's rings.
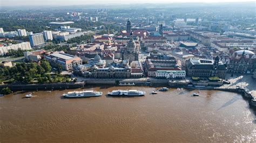
[[[127,46],[123,54],[123,60],[129,60],[129,62],[139,60],[139,45],[134,42],[132,33],[130,40],[127,42]]]

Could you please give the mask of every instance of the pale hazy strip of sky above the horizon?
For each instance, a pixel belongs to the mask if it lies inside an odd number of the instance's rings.
[[[86,4],[133,4],[133,3],[173,3],[173,2],[244,2],[246,0],[0,0],[2,6],[25,5],[86,5]],[[248,0],[256,1],[256,0]]]

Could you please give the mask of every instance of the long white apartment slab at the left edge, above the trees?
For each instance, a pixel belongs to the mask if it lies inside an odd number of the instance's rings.
[[[10,49],[18,50],[19,48],[22,50],[29,50],[31,49],[31,46],[29,42],[22,42],[22,43],[10,45],[10,46],[3,46],[3,47],[0,47],[0,55],[5,55],[6,53],[9,52]]]

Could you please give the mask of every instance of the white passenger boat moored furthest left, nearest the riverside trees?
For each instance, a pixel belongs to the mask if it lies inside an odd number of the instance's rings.
[[[78,97],[96,97],[101,96],[102,92],[86,90],[86,91],[70,91],[67,94],[63,94],[64,97],[78,98]]]

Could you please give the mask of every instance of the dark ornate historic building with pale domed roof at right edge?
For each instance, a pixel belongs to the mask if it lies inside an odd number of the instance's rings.
[[[256,69],[256,56],[252,51],[236,51],[233,53],[227,69],[231,73],[252,74]]]

